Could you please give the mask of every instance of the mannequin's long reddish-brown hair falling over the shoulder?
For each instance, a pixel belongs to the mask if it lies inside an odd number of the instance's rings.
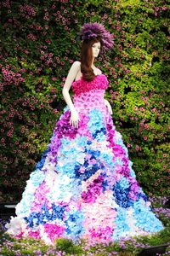
[[[95,78],[94,70],[91,67],[93,60],[92,45],[100,42],[102,47],[102,40],[94,38],[92,40],[84,40],[81,49],[81,73],[84,80],[91,81]]]

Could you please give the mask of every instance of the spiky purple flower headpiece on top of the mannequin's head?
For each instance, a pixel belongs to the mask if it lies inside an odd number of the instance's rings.
[[[102,48],[105,51],[110,49],[114,43],[111,40],[111,33],[106,31],[105,26],[98,22],[84,24],[78,38],[80,38],[82,41],[101,38],[103,43]]]

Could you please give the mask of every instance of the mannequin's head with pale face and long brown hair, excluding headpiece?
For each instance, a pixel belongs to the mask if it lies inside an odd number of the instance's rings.
[[[93,80],[95,77],[92,64],[99,55],[102,48],[102,40],[94,38],[92,40],[84,40],[81,49],[81,72],[85,80]]]

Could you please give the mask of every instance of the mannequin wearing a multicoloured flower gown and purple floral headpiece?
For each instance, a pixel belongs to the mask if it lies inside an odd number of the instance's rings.
[[[115,241],[163,229],[113,125],[106,76],[94,66],[111,47],[111,34],[88,23],[80,38],[81,61],[72,64],[63,88],[67,107],[6,226],[12,236],[54,244],[58,237]]]

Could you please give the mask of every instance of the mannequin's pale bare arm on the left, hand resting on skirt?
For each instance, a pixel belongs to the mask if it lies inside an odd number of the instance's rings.
[[[73,102],[71,101],[71,96],[69,94],[69,90],[71,88],[72,82],[74,81],[74,79],[77,76],[77,73],[80,70],[80,64],[81,64],[80,61],[75,61],[72,64],[71,69],[69,70],[69,73],[68,73],[67,78],[65,80],[63,90],[62,90],[65,102],[71,110],[70,125],[72,125],[74,127],[78,127],[79,117],[78,117],[77,110],[74,107]]]

